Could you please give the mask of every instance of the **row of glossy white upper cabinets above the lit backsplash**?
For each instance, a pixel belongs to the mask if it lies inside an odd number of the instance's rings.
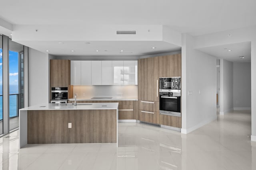
[[[71,85],[138,85],[138,61],[70,61]]]

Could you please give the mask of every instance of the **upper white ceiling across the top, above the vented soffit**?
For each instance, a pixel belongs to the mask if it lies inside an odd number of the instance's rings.
[[[255,0],[5,0],[12,24],[157,24],[191,35],[256,25]]]

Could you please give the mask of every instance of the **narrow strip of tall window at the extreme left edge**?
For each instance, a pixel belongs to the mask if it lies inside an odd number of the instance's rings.
[[[3,134],[3,47],[0,35],[0,134]]]

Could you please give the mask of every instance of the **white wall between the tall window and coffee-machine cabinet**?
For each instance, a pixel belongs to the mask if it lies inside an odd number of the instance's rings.
[[[48,103],[48,54],[28,50],[28,106]]]

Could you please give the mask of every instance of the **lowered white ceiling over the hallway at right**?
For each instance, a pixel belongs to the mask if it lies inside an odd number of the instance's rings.
[[[225,59],[236,63],[251,61],[251,42],[204,47],[198,50],[216,56],[219,59]],[[244,56],[244,59],[241,59],[240,56]]]

